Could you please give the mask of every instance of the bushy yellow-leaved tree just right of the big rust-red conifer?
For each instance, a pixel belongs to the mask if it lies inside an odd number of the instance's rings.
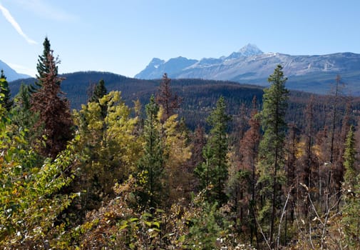
[[[131,118],[130,112],[119,91],[111,91],[74,111],[78,138],[75,147],[81,159],[71,186],[81,193],[75,206],[77,218],[113,198],[115,183],[124,181],[133,171],[141,145],[134,135],[137,118]]]

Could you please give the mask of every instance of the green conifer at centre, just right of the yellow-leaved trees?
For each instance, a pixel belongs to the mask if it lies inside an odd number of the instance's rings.
[[[212,202],[217,201],[218,204],[227,201],[225,194],[225,182],[228,175],[227,124],[230,116],[226,114],[225,109],[225,99],[221,96],[215,110],[207,117],[207,123],[212,129],[203,149],[205,161],[195,169],[195,174],[200,178],[200,187],[210,188],[207,199]]]

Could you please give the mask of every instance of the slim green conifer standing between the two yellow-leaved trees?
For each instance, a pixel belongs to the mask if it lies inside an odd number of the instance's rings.
[[[144,124],[145,144],[143,156],[138,163],[138,196],[140,205],[155,208],[160,205],[163,194],[162,178],[164,175],[163,145],[160,139],[159,106],[151,96],[150,103],[145,106]]]

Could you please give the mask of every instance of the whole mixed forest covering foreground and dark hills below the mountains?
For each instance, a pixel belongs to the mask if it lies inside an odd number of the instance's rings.
[[[66,89],[43,47],[31,86],[0,77],[1,249],[359,249],[340,76],[327,96],[290,93],[281,65],[266,89],[93,72]]]

